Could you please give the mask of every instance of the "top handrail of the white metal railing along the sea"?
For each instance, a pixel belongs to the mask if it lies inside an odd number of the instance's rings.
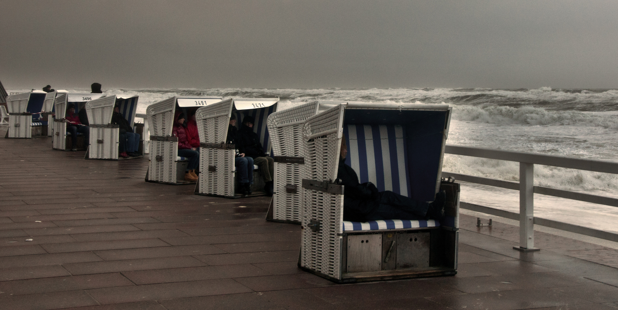
[[[501,149],[475,148],[473,146],[460,145],[447,145],[445,153],[618,174],[618,162],[599,161],[597,159],[503,151]]]

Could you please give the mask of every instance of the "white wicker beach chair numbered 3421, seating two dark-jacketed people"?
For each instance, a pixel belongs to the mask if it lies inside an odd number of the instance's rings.
[[[243,117],[252,116],[255,119],[253,131],[260,136],[265,152],[269,153],[271,141],[266,122],[268,115],[277,111],[278,102],[279,98],[231,98],[197,110],[195,120],[200,134],[201,173],[195,187],[196,194],[242,197],[236,195],[238,184],[234,167],[235,146],[225,144],[229,119],[235,114],[239,126]],[[253,194],[250,196],[265,195],[261,190],[264,182],[260,174],[253,174],[253,182]]]

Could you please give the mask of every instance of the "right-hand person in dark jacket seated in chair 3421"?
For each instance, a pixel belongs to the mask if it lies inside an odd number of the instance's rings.
[[[253,132],[253,117],[247,115],[242,120],[242,127],[239,130],[240,145],[242,145],[245,156],[252,157],[264,177],[264,191],[267,196],[273,196],[273,176],[274,176],[274,159],[264,153],[264,148],[260,143],[260,136]]]

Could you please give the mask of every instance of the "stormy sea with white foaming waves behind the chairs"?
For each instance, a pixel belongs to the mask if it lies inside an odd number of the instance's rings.
[[[28,90],[8,90],[28,91]],[[69,92],[87,92],[72,89]],[[171,96],[279,97],[277,109],[314,100],[446,103],[449,145],[476,146],[618,162],[618,90],[486,88],[393,89],[105,89],[138,94],[138,113]],[[519,181],[517,162],[444,156],[444,171]],[[618,175],[535,165],[535,185],[618,198]],[[461,200],[519,212],[519,192],[464,183]],[[535,216],[618,232],[618,208],[535,195]]]

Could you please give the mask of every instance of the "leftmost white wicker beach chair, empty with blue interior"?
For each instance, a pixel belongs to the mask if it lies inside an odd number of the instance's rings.
[[[47,119],[41,114],[51,112],[56,92],[33,90],[7,96],[9,130],[7,138],[42,138],[47,136]],[[43,132],[45,133],[43,135]]]

